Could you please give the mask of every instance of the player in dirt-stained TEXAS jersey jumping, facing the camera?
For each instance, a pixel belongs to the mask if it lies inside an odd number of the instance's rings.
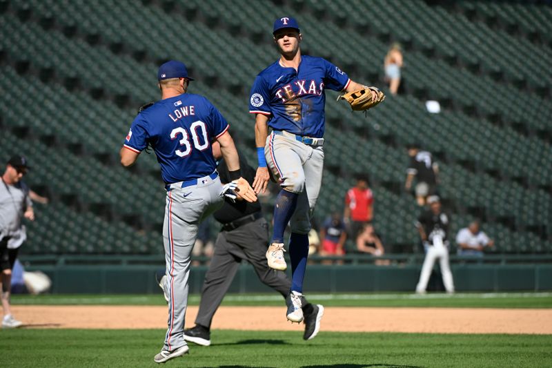
[[[299,45],[303,36],[295,19],[276,19],[273,36],[280,57],[257,75],[250,93],[249,112],[255,114],[259,160],[253,187],[256,193],[264,193],[270,178],[268,168],[282,186],[275,202],[273,237],[266,258],[273,269],[287,268],[284,229],[290,222],[292,284],[287,318],[301,322],[308,231],[324,164],[324,90],[351,92],[364,86],[351,81],[329,61],[302,55]],[[273,129],[270,135],[268,126]]]

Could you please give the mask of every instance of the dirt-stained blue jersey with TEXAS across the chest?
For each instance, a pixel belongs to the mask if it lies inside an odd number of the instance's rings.
[[[249,112],[270,116],[274,130],[307,137],[324,136],[324,90],[344,90],[351,79],[322,57],[302,55],[297,71],[276,61],[257,75]]]

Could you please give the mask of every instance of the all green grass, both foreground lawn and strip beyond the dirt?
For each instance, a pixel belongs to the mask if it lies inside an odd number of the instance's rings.
[[[552,293],[334,294],[313,302],[351,307],[551,308]],[[155,296],[14,296],[13,304],[164,305]],[[199,296],[191,296],[197,304]],[[282,305],[279,296],[228,295],[225,305]],[[0,331],[2,367],[156,367],[162,329]],[[213,345],[166,367],[552,367],[552,335],[338,333],[312,341],[284,331],[214,330]]]

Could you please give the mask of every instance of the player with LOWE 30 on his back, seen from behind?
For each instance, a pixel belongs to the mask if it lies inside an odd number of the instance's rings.
[[[134,164],[148,145],[152,146],[166,184],[163,238],[168,290],[168,329],[164,347],[154,361],[166,362],[188,352],[184,340],[184,317],[188,302],[190,253],[198,224],[222,204],[221,195],[257,200],[253,188],[240,177],[239,160],[228,123],[205,97],[186,93],[186,66],[168,61],[157,74],[161,100],[137,115],[121,148],[121,164]],[[221,146],[230,180],[222,186],[215,171],[211,140]],[[244,185],[245,182],[245,185]],[[240,185],[236,187],[236,184]],[[235,189],[235,191],[233,191]]]

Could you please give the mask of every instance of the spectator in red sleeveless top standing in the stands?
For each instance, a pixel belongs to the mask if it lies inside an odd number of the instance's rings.
[[[349,226],[349,235],[356,242],[364,224],[373,219],[374,198],[368,187],[368,175],[357,176],[357,184],[347,191],[343,219]]]

